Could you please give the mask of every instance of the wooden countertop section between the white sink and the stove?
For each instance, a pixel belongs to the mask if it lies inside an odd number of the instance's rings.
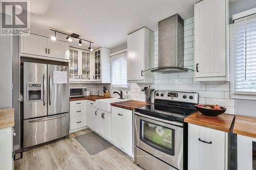
[[[134,101],[134,100],[111,103],[111,106],[116,106],[116,107],[129,109],[129,110],[134,110],[137,107],[148,106],[148,105],[151,105],[151,104],[140,102],[140,101]]]

